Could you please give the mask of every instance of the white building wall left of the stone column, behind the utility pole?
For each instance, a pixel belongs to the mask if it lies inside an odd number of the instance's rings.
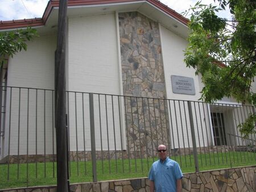
[[[117,22],[115,14],[69,18],[67,41],[67,90],[106,94],[121,94],[119,80]],[[40,36],[28,42],[27,52],[20,52],[10,59],[8,85],[54,89],[54,52],[56,36]],[[56,152],[52,143],[55,129],[52,119],[52,93],[27,89],[12,91],[12,103],[7,101],[5,156],[52,154]],[[10,89],[7,91],[10,98]],[[44,99],[46,105],[44,105]],[[121,103],[122,99],[119,100]],[[70,150],[90,150],[90,120],[88,95],[70,93],[68,97]],[[107,102],[107,105],[105,105]],[[121,132],[118,98],[101,96],[101,121],[97,95],[94,95],[94,114],[97,150],[121,149]],[[106,110],[107,106],[107,110]],[[38,107],[36,109],[36,107]],[[119,108],[120,107],[120,108]],[[108,122],[106,121],[108,113]],[[122,112],[121,112],[122,113]],[[28,115],[27,115],[28,114]],[[36,115],[37,114],[37,115]],[[77,115],[77,118],[76,118]],[[27,118],[29,116],[29,118]],[[83,122],[84,118],[84,122]],[[122,121],[124,118],[122,117]],[[37,124],[37,125],[36,125]],[[83,130],[85,127],[85,130]],[[28,136],[27,136],[28,135]],[[18,139],[20,137],[20,139]],[[55,139],[55,136],[54,136]],[[102,143],[101,143],[102,139]],[[85,141],[85,147],[84,147]],[[54,141],[55,142],[55,141]],[[27,148],[28,143],[28,148]],[[102,146],[102,147],[101,147]],[[37,148],[37,149],[36,149]]]

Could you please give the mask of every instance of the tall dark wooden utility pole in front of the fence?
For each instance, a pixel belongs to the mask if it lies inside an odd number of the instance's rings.
[[[57,51],[55,54],[55,127],[57,151],[57,192],[68,192],[68,147],[65,90],[65,46],[67,31],[67,1],[59,2]]]

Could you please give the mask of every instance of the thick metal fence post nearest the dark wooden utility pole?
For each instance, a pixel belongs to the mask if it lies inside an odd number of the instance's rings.
[[[97,182],[93,93],[89,93],[89,109],[90,109],[90,145],[92,150],[91,153],[92,153],[93,182]]]

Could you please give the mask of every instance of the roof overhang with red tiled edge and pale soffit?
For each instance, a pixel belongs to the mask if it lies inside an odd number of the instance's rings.
[[[69,0],[68,17],[138,11],[182,37],[188,36],[188,19],[156,0]],[[35,27],[39,34],[56,31],[59,1],[48,2],[42,18],[1,21],[0,31]]]

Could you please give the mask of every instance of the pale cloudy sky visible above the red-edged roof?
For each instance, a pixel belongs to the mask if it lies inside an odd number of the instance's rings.
[[[0,0],[0,20],[16,20],[42,18],[49,0]],[[188,10],[190,5],[195,5],[197,0],[160,0],[176,12]],[[213,0],[202,0],[209,5]],[[229,18],[228,12],[221,12],[224,18]]]

